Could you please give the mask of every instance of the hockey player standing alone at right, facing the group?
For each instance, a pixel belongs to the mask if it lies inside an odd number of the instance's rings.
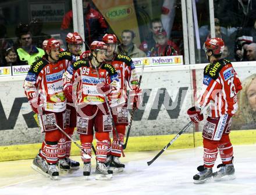
[[[223,49],[224,42],[221,38],[205,41],[204,50],[210,63],[204,68],[199,105],[187,110],[191,121],[197,123],[204,118],[200,114],[201,109],[210,101],[214,102],[202,131],[204,165],[197,168],[199,172],[193,177],[194,183],[203,183],[212,176],[215,180],[224,176],[234,178],[233,147],[229,133],[232,115],[237,110],[237,92],[241,90],[241,82],[229,60],[221,59]],[[212,173],[218,150],[222,164],[217,167],[219,171]]]

